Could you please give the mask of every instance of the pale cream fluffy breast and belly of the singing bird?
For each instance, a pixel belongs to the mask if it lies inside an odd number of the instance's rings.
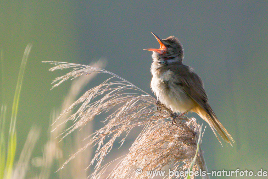
[[[196,103],[177,85],[170,70],[158,74],[153,74],[151,88],[160,103],[181,113],[195,107]]]

